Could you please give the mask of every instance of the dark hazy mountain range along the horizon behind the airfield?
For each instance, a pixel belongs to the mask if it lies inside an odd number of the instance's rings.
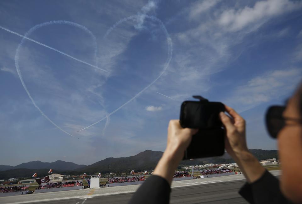
[[[258,160],[271,158],[278,159],[277,150],[250,149],[249,151],[253,153]],[[2,171],[0,171],[0,179],[8,179],[14,177],[27,178],[31,177],[33,173],[37,173],[38,176],[45,176],[48,175],[49,169],[53,169],[54,173],[72,175],[80,175],[84,172],[87,175],[98,173],[106,174],[110,172],[115,172],[118,174],[123,172],[129,173],[131,169],[134,169],[136,172],[151,170],[155,168],[162,154],[163,152],[146,150],[130,157],[106,158],[87,166],[60,160],[51,163],[41,161],[27,162],[14,167],[0,165],[0,170],[1,168],[3,169]],[[234,163],[234,160],[228,153],[225,153],[221,157],[199,158],[192,161],[183,160],[178,168],[180,169],[183,165],[200,165],[209,163],[229,164]]]

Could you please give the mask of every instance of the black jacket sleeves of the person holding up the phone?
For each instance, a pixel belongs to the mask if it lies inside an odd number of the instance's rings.
[[[129,203],[169,203],[170,193],[171,187],[167,180],[153,175],[137,189]],[[282,195],[279,180],[268,171],[254,183],[245,183],[240,189],[239,194],[251,204],[291,203]]]

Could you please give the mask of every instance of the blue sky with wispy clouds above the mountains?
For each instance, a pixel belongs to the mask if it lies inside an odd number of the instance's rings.
[[[301,9],[288,0],[1,1],[0,164],[163,151],[168,121],[197,94],[240,112],[249,148],[277,149],[264,114],[301,80]]]

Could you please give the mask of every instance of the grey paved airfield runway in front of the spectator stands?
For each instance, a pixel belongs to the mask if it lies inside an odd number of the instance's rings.
[[[281,174],[279,170],[271,173],[275,176]],[[248,203],[238,194],[244,182],[243,175],[174,181],[170,203]],[[128,185],[1,197],[0,203],[127,203],[138,187]]]

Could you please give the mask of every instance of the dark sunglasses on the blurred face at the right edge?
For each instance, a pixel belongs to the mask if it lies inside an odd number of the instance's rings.
[[[283,117],[283,112],[286,106],[271,106],[266,112],[266,129],[271,137],[277,138],[279,132],[282,128],[288,124],[286,121],[297,121],[299,124],[302,124],[302,120],[297,118],[288,118]]]

